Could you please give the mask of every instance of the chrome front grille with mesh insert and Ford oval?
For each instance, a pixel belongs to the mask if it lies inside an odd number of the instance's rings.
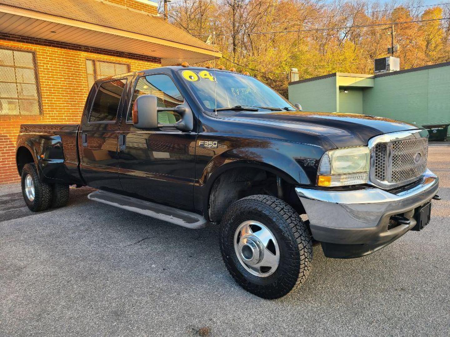
[[[400,186],[427,169],[428,137],[378,142],[371,151],[371,181],[376,185]]]

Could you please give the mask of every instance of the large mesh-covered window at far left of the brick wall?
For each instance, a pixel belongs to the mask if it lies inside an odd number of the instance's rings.
[[[36,59],[31,51],[0,48],[0,115],[40,115]]]

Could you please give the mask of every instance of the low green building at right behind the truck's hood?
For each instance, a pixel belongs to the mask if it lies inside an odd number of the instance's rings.
[[[288,95],[303,111],[375,115],[439,129],[450,124],[450,62],[380,75],[313,77],[289,83]]]

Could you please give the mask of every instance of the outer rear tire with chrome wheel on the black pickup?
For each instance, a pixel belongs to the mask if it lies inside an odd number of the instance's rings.
[[[52,187],[41,182],[35,164],[25,164],[22,170],[22,195],[28,208],[33,212],[49,208]]]

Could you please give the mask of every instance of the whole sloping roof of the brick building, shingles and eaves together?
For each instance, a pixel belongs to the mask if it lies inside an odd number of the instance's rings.
[[[97,0],[0,0],[0,32],[161,58],[163,66],[220,58],[155,15]]]

